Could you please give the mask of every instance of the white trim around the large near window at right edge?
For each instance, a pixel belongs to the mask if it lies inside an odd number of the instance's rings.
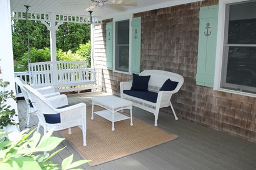
[[[214,90],[223,91],[227,93],[240,94],[243,96],[256,97],[256,94],[246,93],[244,91],[235,91],[221,88],[221,72],[223,59],[223,44],[224,44],[224,30],[225,30],[225,9],[227,4],[235,2],[245,2],[249,0],[220,0],[218,11],[218,32],[217,32],[217,48],[215,58],[215,76],[214,76]]]

